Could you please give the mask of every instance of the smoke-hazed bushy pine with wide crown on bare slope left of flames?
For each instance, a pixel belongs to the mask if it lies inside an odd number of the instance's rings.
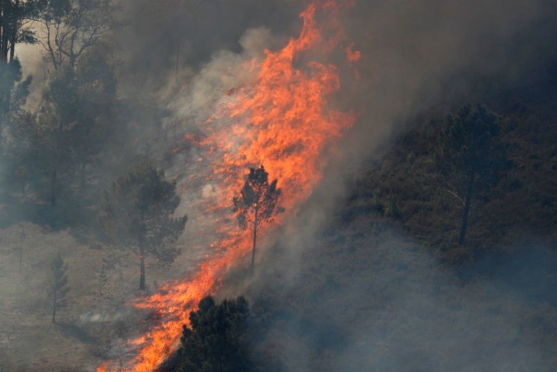
[[[145,289],[145,258],[170,266],[180,254],[175,242],[187,216],[174,218],[180,204],[176,182],[149,163],[136,165],[102,191],[98,220],[102,230],[139,257],[139,289]]]

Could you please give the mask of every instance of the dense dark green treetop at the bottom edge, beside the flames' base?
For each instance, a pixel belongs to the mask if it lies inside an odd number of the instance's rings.
[[[248,301],[240,296],[217,304],[211,296],[189,314],[178,352],[180,372],[252,371]]]

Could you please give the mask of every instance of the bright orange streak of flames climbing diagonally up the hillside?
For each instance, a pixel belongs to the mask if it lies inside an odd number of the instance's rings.
[[[354,122],[352,114],[329,108],[326,98],[340,88],[340,82],[337,67],[323,62],[338,47],[345,52],[338,15],[349,6],[350,1],[340,0],[310,3],[301,13],[304,26],[299,37],[280,51],[265,51],[262,61],[246,61],[244,68],[253,71],[253,81],[223,93],[214,114],[202,124],[204,138],[185,137],[204,154],[195,159],[198,173],[185,176],[185,193],[191,185],[203,188],[203,198],[191,207],[193,212],[189,208],[189,216],[207,219],[203,224],[217,236],[211,244],[213,253],[196,274],[136,300],[135,307],[156,314],[153,318],[158,320],[146,334],[128,341],[125,357],[103,364],[97,372],[154,371],[177,345],[189,312],[219,288],[230,266],[249,253],[251,236],[238,229],[231,209],[249,167],[265,165],[269,179],[278,179],[283,191],[281,205],[286,212],[267,231],[296,213],[311,195],[321,179],[324,152]],[[354,62],[359,52],[351,48],[347,60]]]

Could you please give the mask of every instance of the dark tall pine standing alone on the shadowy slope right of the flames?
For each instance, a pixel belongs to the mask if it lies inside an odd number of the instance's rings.
[[[464,212],[458,244],[464,244],[476,180],[496,170],[499,118],[483,104],[464,104],[448,115],[441,131],[441,154],[464,191]]]

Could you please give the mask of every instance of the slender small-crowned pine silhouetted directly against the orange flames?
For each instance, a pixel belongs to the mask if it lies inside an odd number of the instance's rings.
[[[269,223],[276,213],[284,211],[276,204],[281,197],[281,189],[276,188],[275,179],[269,184],[269,173],[265,168],[249,168],[246,183],[240,191],[240,197],[234,197],[234,211],[238,212],[238,225],[242,229],[253,230],[253,250],[251,250],[251,267],[256,259],[257,232]]]

